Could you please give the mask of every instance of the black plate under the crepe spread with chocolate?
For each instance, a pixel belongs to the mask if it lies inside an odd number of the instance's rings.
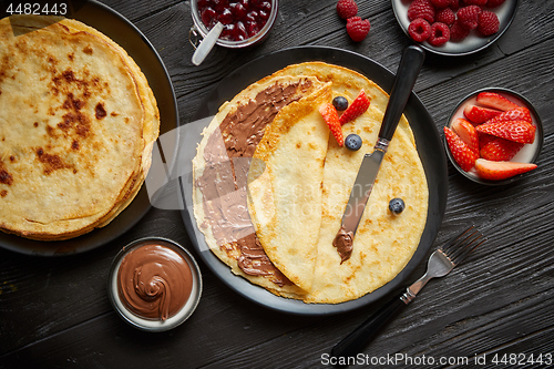
[[[306,61],[324,61],[350,68],[373,80],[387,92],[390,92],[394,80],[394,74],[384,69],[382,65],[369,58],[365,58],[353,52],[321,47],[286,49],[256,59],[226,76],[207,96],[204,103],[201,104],[197,119],[214,115],[224,101],[230,100],[248,84],[289,64]],[[404,114],[410,121],[413,130],[418,151],[429,183],[429,214],[425,229],[423,230],[418,249],[406,268],[394,279],[371,294],[356,300],[337,305],[305,304],[298,300],[277,297],[268,293],[266,289],[253,285],[242,277],[233,275],[229,267],[223,264],[209,250],[204,240],[203,234],[196,227],[196,222],[192,213],[192,181],[191,178],[182,177],[181,187],[185,199],[185,209],[182,212],[183,219],[191,239],[193,240],[193,244],[202,259],[217,275],[217,277],[219,277],[238,294],[265,307],[297,315],[330,315],[349,311],[373,303],[389,291],[399,287],[402,280],[410,275],[410,273],[425,256],[431,244],[433,243],[442,223],[448,194],[448,171],[444,148],[432,117],[429,115],[428,111],[414,93],[411,94],[410,100],[408,101]],[[205,125],[208,123],[209,120],[206,120]],[[196,132],[198,131],[199,130],[196,130]],[[187,135],[189,135],[189,133],[187,133]],[[199,141],[201,136],[197,135],[196,142],[198,143]],[[195,146],[196,145],[193,147]],[[186,151],[183,160],[192,161],[195,153],[195,150]],[[178,165],[181,166],[182,163],[179,162]]]

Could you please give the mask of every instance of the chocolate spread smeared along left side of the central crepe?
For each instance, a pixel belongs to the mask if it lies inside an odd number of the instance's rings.
[[[298,90],[304,92],[310,86],[309,80],[288,85],[275,83],[229,112],[208,137],[204,172],[195,182],[204,196],[202,226],[212,227],[219,247],[237,259],[244,273],[268,276],[278,286],[291,281],[273,265],[256,236],[248,214],[246,181],[267,124],[281,107],[301,98]]]

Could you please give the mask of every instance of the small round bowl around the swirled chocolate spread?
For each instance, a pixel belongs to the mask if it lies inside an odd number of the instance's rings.
[[[131,253],[134,249],[153,244],[168,247],[174,252],[176,252],[177,254],[179,254],[183,257],[183,259],[188,264],[188,267],[191,268],[191,273],[193,276],[193,281],[192,281],[193,288],[185,305],[181,308],[181,310],[177,314],[167,318],[165,321],[157,319],[154,320],[154,319],[142,318],[132,312],[131,310],[129,310],[121,300],[117,287],[117,274],[120,270],[121,263],[123,262],[125,256],[127,256],[129,253]],[[173,329],[178,325],[181,325],[186,319],[188,319],[188,317],[196,309],[196,306],[198,305],[198,301],[201,299],[201,295],[202,295],[202,274],[194,257],[191,255],[191,253],[188,253],[186,248],[184,248],[179,244],[162,237],[141,238],[124,246],[113,259],[112,267],[110,269],[110,275],[107,277],[107,296],[115,311],[117,311],[117,314],[123,318],[123,320],[129,322],[131,326],[138,328],[141,330],[146,330],[152,332]]]

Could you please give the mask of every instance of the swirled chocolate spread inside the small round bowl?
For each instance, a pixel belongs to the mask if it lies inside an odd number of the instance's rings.
[[[123,258],[117,286],[122,303],[132,312],[166,320],[185,306],[193,275],[186,260],[172,248],[145,245]]]

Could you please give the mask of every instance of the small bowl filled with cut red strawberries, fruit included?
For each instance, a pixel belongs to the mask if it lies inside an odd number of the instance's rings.
[[[504,185],[525,176],[527,171],[514,168],[536,167],[544,140],[542,121],[533,104],[517,92],[502,88],[479,90],[462,99],[445,127],[461,141],[469,143],[471,140],[469,146],[472,147],[475,147],[474,136],[478,135],[476,158],[469,170],[466,163],[456,162],[460,155],[454,152],[459,148],[449,143],[453,142],[452,137],[444,137],[444,146],[452,165],[461,174],[484,185]]]

